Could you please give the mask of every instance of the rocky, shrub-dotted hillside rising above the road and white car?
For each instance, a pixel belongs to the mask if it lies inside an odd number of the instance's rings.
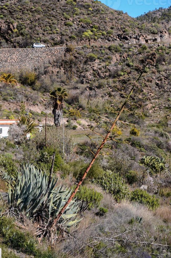
[[[156,31],[157,30],[157,31]],[[143,43],[142,35],[157,41],[162,26],[131,18],[100,1],[2,1],[0,6],[0,46],[27,47],[40,41],[47,46],[113,41]],[[149,41],[150,43],[150,41]]]

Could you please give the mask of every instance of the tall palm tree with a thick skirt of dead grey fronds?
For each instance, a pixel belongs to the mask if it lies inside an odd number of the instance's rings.
[[[61,118],[63,115],[64,99],[67,98],[68,93],[65,89],[55,88],[50,92],[50,98],[53,105],[52,114],[54,115],[54,124],[60,126]]]

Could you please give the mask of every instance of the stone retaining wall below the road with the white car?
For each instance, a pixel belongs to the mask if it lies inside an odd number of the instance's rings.
[[[0,70],[19,70],[22,67],[32,69],[56,61],[65,52],[66,47],[0,49]]]

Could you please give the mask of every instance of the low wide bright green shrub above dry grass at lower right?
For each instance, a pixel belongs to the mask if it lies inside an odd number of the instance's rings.
[[[159,199],[154,195],[150,195],[145,190],[135,189],[131,192],[130,200],[133,202],[139,202],[148,206],[149,209],[154,210],[159,207]]]

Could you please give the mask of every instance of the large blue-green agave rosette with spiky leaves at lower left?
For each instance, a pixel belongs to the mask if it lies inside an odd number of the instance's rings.
[[[42,173],[41,169],[30,163],[22,164],[21,171],[16,173],[11,182],[7,180],[8,204],[11,210],[25,212],[29,219],[37,222],[37,235],[39,236],[44,235],[45,230],[49,231],[47,225],[58,215],[71,194],[70,190],[57,185],[54,177],[50,185],[48,182],[47,174]],[[80,221],[78,211],[79,202],[73,200],[58,225],[60,227],[76,225]]]

